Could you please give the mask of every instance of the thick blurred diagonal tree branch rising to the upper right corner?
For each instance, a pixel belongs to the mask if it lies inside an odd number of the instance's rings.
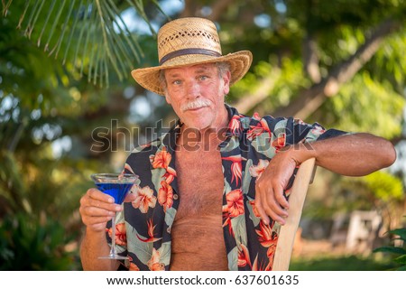
[[[313,85],[310,89],[304,90],[300,96],[294,99],[288,107],[277,109],[275,117],[309,117],[327,97],[337,94],[340,86],[349,79],[352,79],[364,64],[369,61],[379,49],[384,37],[401,28],[401,23],[387,20],[375,30],[362,46],[359,47],[346,61],[343,61],[331,70],[328,77]]]

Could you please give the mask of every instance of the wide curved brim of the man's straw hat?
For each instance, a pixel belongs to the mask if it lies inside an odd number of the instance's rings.
[[[251,51],[238,51],[220,57],[202,54],[187,54],[173,58],[170,61],[166,61],[161,66],[132,70],[131,75],[144,89],[151,90],[152,92],[163,96],[165,92],[161,88],[161,70],[204,63],[228,62],[230,64],[231,86],[245,76],[245,73],[249,70],[252,61],[253,54]]]

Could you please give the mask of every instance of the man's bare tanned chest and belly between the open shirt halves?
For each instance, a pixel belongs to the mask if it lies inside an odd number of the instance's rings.
[[[171,270],[227,270],[220,153],[177,152],[180,206],[171,228]]]

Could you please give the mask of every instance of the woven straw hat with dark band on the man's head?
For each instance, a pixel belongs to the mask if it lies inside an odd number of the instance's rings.
[[[222,55],[216,25],[203,18],[180,18],[163,25],[158,33],[159,66],[131,71],[133,78],[145,89],[161,96],[160,70],[188,65],[226,61],[230,64],[230,85],[243,78],[253,55],[238,51]]]

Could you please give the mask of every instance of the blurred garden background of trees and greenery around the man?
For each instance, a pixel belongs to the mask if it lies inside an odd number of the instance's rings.
[[[93,172],[173,124],[130,75],[157,65],[156,33],[207,17],[223,53],[254,62],[226,98],[241,113],[294,116],[381,135],[391,168],[348,178],[318,168],[293,270],[405,268],[406,1],[2,1],[0,269],[81,270],[79,199]],[[379,249],[377,249],[379,248]],[[374,252],[380,251],[380,252]]]

